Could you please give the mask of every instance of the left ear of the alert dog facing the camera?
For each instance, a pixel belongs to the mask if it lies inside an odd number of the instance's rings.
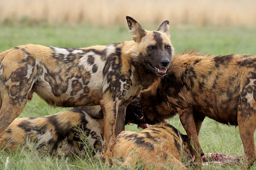
[[[146,30],[144,30],[136,20],[129,16],[126,16],[126,20],[131,32],[131,37],[135,42],[140,42],[141,39],[146,35]]]

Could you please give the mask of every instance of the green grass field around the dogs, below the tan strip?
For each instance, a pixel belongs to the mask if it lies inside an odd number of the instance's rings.
[[[157,27],[148,27],[148,30]],[[55,26],[55,27],[0,27],[0,51],[16,45],[34,43],[58,47],[86,47],[90,45],[107,45],[112,42],[131,40],[128,28],[114,26],[99,28],[95,26]],[[172,44],[176,53],[184,50],[198,49],[201,52],[220,54],[256,54],[256,29],[248,28],[171,28]],[[50,107],[37,95],[28,102],[20,117],[51,115],[67,108]],[[182,133],[184,129],[178,117],[169,122]],[[128,125],[126,130],[136,130],[136,125]],[[200,144],[205,153],[243,154],[243,145],[238,128],[222,125],[208,118],[202,124],[199,135]],[[84,157],[60,157],[39,155],[35,150],[20,152],[0,151],[0,169],[11,170],[75,170],[103,169],[102,163],[96,163]],[[118,169],[118,168],[117,168]],[[207,167],[203,169],[238,169],[238,167]],[[256,165],[252,167],[256,169]]]

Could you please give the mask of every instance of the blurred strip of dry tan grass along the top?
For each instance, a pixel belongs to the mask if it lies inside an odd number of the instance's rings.
[[[256,25],[256,0],[0,0],[0,21],[125,24],[125,15],[142,23],[172,25]]]

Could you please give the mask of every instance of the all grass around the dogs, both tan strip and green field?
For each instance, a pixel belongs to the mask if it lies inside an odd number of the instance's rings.
[[[255,55],[255,6],[254,0],[0,0],[0,52],[27,43],[87,47],[131,40],[125,20],[125,15],[130,15],[147,30],[156,30],[169,20],[175,53],[197,49],[213,55]],[[20,117],[51,115],[61,110],[67,108],[51,107],[34,94]],[[177,116],[169,122],[185,133]],[[136,125],[127,125],[125,130],[139,131]],[[238,128],[208,118],[202,124],[199,140],[205,153],[243,154]],[[0,169],[5,169],[8,157],[6,169],[102,169],[102,164],[91,160],[41,156],[28,150],[0,151]]]

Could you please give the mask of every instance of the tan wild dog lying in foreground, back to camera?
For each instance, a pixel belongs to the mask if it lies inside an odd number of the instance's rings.
[[[121,163],[121,166],[135,168],[140,162],[145,169],[186,170],[182,160],[185,163],[193,161],[188,145],[187,135],[180,134],[172,125],[161,123],[141,133],[121,132],[110,144],[105,159],[107,165]]]

